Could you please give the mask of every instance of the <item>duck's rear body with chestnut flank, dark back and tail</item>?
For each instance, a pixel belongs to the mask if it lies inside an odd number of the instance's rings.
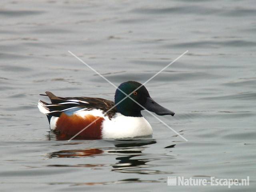
[[[51,92],[46,95],[52,103],[38,101],[40,112],[46,114],[51,130],[63,139],[69,139],[82,131],[76,139],[102,138],[102,122],[116,114],[114,102],[102,98],[57,97]],[[106,114],[105,114],[106,113]]]

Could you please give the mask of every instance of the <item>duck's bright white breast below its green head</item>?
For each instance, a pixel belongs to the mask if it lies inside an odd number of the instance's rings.
[[[102,122],[102,138],[134,138],[152,135],[151,125],[144,117],[128,117],[117,113]]]

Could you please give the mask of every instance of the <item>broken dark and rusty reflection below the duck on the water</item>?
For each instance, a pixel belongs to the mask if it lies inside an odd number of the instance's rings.
[[[172,159],[174,156],[165,155],[164,157],[143,158],[146,154],[143,150],[147,148],[146,145],[155,144],[156,140],[112,140],[115,147],[113,148],[90,148],[84,150],[61,150],[50,154],[50,158],[81,158],[97,155],[116,154],[118,157],[116,164],[79,164],[72,166],[79,167],[101,167],[112,166],[112,171],[126,172],[126,173],[140,173],[140,174],[158,174],[162,173],[158,170],[146,170],[145,168],[152,167],[148,162],[163,159]],[[174,147],[174,146],[172,146]],[[50,165],[50,166],[69,166],[69,165]],[[141,169],[142,168],[142,169]]]

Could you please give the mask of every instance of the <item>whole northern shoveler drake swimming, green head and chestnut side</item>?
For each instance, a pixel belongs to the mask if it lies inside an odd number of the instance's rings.
[[[130,97],[147,110],[158,115],[174,116],[174,112],[156,103],[145,86],[141,85],[135,81],[128,81],[120,84],[118,88],[126,94],[133,92]],[[139,86],[141,87],[136,90]],[[57,97],[47,91],[46,95],[43,95],[48,96],[51,103],[39,100],[38,108],[46,114],[50,129],[63,138],[76,135],[95,120],[76,136],[76,139],[134,138],[152,135],[152,127],[141,114],[144,109],[130,98],[124,99],[126,95],[120,90],[116,90],[114,102],[91,97]],[[124,100],[120,102],[122,99]],[[118,102],[120,104],[113,108]]]

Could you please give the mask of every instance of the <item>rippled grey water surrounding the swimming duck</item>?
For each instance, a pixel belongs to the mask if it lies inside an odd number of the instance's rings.
[[[215,1],[21,1],[0,6],[1,191],[226,191],[167,186],[167,176],[246,178],[256,174],[256,4]],[[58,141],[39,94],[113,100],[118,85],[148,82],[176,112],[144,112],[152,139]],[[45,99],[45,98],[44,98]]]

